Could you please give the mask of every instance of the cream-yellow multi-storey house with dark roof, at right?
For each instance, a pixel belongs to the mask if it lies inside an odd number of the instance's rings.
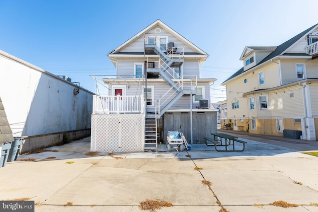
[[[317,59],[318,24],[277,47],[245,47],[244,66],[222,83],[227,122],[251,134],[284,136],[291,130],[317,140]]]

